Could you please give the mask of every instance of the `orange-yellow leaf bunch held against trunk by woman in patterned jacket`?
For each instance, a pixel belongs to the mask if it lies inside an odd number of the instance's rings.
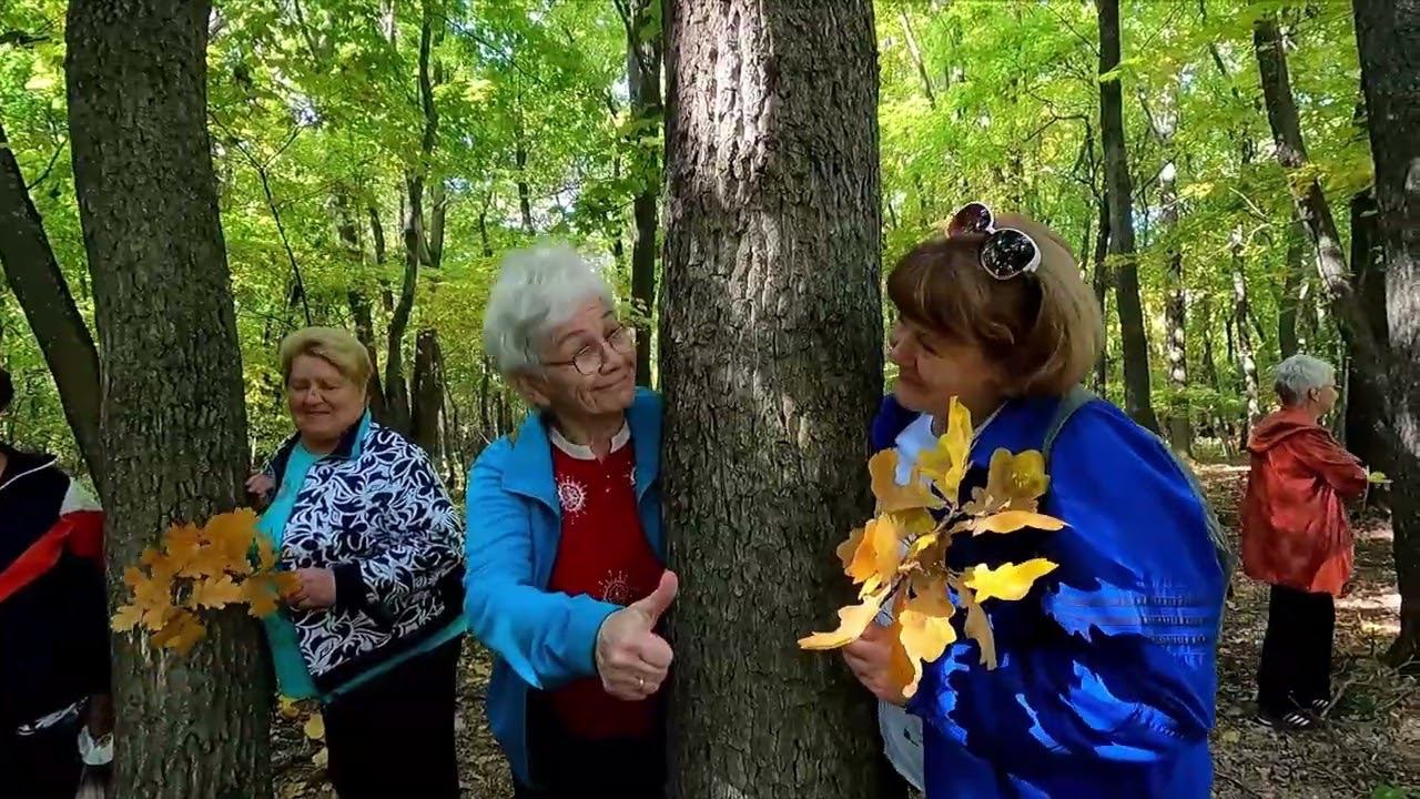
[[[266,617],[297,587],[295,574],[277,572],[271,539],[257,530],[250,509],[220,513],[203,527],[173,525],[160,549],[143,550],[141,563],[142,569],[124,572],[129,604],[118,608],[112,627],[119,633],[143,627],[153,645],[179,654],[207,634],[199,608],[246,604],[251,616]]]

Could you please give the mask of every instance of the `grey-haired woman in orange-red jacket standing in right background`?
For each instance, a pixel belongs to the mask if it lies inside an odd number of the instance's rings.
[[[1332,701],[1335,597],[1352,566],[1345,500],[1366,492],[1366,469],[1321,425],[1336,405],[1329,364],[1292,355],[1275,388],[1282,408],[1252,428],[1242,499],[1242,569],[1272,586],[1257,719],[1309,729]]]

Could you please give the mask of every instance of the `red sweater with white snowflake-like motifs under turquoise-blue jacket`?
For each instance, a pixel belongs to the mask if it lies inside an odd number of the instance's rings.
[[[663,570],[636,513],[635,454],[626,434],[605,461],[552,436],[552,475],[562,505],[562,539],[548,590],[626,606],[656,590]],[[655,731],[656,698],[625,702],[599,677],[548,697],[574,738],[642,738]]]

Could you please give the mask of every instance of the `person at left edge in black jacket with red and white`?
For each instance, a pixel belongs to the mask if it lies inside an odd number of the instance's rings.
[[[0,370],[0,414],[14,384]],[[53,455],[0,442],[0,795],[72,799],[111,741],[104,515]]]

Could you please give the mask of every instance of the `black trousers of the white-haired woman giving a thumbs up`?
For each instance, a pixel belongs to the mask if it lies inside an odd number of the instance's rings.
[[[535,786],[514,781],[515,799],[663,799],[666,736],[589,741],[562,729],[557,715],[528,698],[528,766]]]

